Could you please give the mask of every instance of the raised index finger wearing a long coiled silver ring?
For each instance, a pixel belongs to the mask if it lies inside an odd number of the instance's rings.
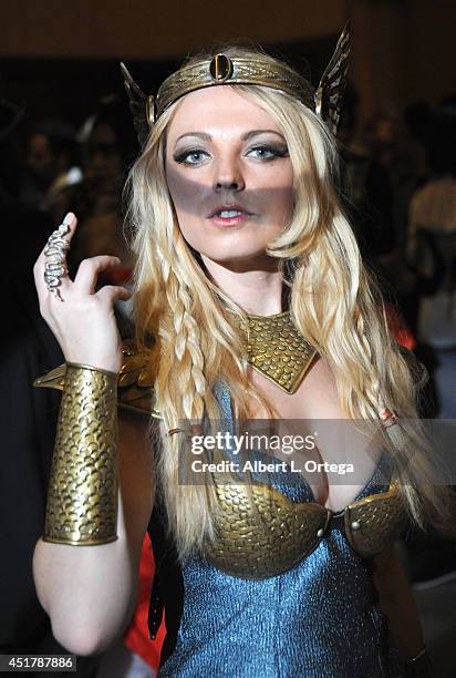
[[[71,280],[66,274],[65,253],[70,248],[70,242],[76,229],[76,217],[72,212],[69,212],[62,224],[53,230],[41,250],[33,267],[37,290],[40,297],[45,297],[51,292],[52,284],[49,284],[50,277],[51,279],[54,278],[53,284],[56,284],[55,289],[61,290],[70,287]],[[55,276],[52,275],[53,271]],[[46,274],[48,282],[44,274]]]

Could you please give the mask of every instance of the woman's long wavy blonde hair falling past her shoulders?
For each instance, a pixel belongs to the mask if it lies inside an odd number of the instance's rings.
[[[225,53],[261,60],[266,65],[276,62],[253,50],[229,48]],[[280,90],[229,86],[267,111],[288,143],[294,210],[267,253],[278,259],[290,288],[297,327],[329,361],[342,411],[348,418],[373,422],[384,409],[415,419],[410,369],[391,337],[383,302],[339,205],[333,137],[311,110]],[[245,318],[242,309],[209,280],[177,223],[166,183],[165,151],[166,131],[178,106],[179,101],[163,113],[131,171],[128,216],[137,256],[137,339],[147,345],[154,337],[155,407],[164,418],[156,440],[157,481],[169,528],[185,557],[214,536],[218,502],[209,477],[200,485],[180,482],[189,456],[185,453],[187,442],[183,435],[167,435],[167,431],[179,428],[179,420],[220,419],[213,392],[220,378],[229,384],[240,417],[248,418],[258,405],[269,417],[274,410],[249,380],[243,338],[227,311]],[[414,521],[423,525],[429,511],[443,516],[446,502],[429,480],[432,470],[422,436],[412,428],[403,429],[401,449],[386,435],[385,446],[403,481],[401,492]],[[412,453],[413,466],[400,463]]]

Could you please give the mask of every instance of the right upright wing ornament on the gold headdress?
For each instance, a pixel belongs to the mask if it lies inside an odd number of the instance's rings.
[[[345,90],[350,58],[350,24],[343,29],[334,54],[321,76],[315,92],[315,113],[324,120],[335,136]]]

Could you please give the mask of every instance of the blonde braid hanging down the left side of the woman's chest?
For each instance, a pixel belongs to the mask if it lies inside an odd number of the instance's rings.
[[[203,422],[205,396],[208,390],[200,331],[193,316],[194,301],[185,276],[182,275],[185,268],[179,264],[183,257],[182,248],[185,247],[179,235],[175,240],[175,250],[167,248],[167,251],[162,251],[163,291],[166,302],[159,319],[163,352],[156,393],[165,404],[164,412],[167,413],[166,421],[162,424],[164,449],[158,462],[158,473],[168,506],[169,530],[179,535],[179,555],[184,557],[195,547],[203,546],[204,534],[213,534],[211,516],[215,515],[217,506],[213,505],[215,497],[207,492],[206,484],[193,480],[187,436],[183,433],[169,435],[167,432],[178,428],[182,419],[189,423]],[[211,482],[210,477],[205,480]],[[174,501],[169,501],[170,496]],[[173,506],[176,508],[169,510]],[[183,515],[186,516],[185,520]],[[196,542],[195,530],[188,515],[193,515],[201,525],[200,538]]]

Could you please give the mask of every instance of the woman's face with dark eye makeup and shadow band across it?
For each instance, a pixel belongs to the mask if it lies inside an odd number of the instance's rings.
[[[167,134],[180,230],[203,259],[262,259],[290,222],[293,171],[278,124],[230,86],[187,94]]]

